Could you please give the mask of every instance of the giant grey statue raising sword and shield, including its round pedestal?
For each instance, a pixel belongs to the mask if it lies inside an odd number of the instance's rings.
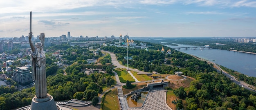
[[[35,46],[31,40],[31,14],[30,12],[30,32],[29,32],[29,45],[31,47],[31,71],[32,77],[35,81],[36,86],[36,96],[32,99],[30,110],[61,110],[61,108],[56,105],[53,97],[47,94],[46,85],[46,60],[45,52],[43,51],[43,46],[45,46],[45,33],[40,34],[40,43],[36,43]]]

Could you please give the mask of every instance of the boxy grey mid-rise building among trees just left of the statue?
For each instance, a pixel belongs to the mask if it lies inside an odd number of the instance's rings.
[[[13,69],[12,79],[22,86],[28,85],[33,81],[32,73],[29,71],[29,68],[25,66]]]

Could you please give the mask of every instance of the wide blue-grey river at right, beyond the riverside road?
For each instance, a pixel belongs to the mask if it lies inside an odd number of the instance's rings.
[[[165,45],[167,47],[194,47],[192,45],[182,45],[177,44],[178,46]],[[176,49],[177,50],[177,49]],[[180,49],[180,52],[186,54],[191,54],[199,58],[204,58],[206,60],[212,61],[218,65],[222,65],[231,70],[246,74],[248,76],[256,77],[256,54],[247,54],[242,52],[234,52],[228,50],[220,49],[200,49],[200,48],[189,48],[189,49]]]

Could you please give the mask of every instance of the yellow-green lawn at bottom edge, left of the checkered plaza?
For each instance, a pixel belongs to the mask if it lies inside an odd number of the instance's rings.
[[[102,101],[102,110],[120,110],[117,88],[105,94]]]

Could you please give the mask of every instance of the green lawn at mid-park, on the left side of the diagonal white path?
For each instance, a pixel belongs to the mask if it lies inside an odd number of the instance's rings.
[[[135,82],[135,79],[125,69],[115,69],[114,71],[117,72],[121,83],[126,83],[127,80]]]

